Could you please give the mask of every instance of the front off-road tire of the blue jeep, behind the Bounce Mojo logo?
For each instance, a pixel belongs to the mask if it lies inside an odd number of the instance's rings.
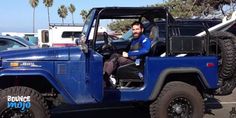
[[[25,111],[26,113],[21,112],[20,109],[7,108],[8,96],[30,96],[31,107],[29,108],[29,110]],[[8,114],[6,113],[6,111]],[[27,118],[50,117],[48,106],[41,94],[35,91],[34,89],[22,86],[9,87],[3,89],[0,93],[0,117],[14,117],[12,112],[18,115],[21,115],[21,113],[24,115],[27,114],[27,116],[25,116]]]

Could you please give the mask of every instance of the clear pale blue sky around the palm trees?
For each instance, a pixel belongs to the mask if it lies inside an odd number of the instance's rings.
[[[76,11],[74,13],[75,23],[83,23],[79,15],[82,9],[89,10],[93,7],[105,6],[125,6],[138,7],[160,3],[163,0],[54,0],[50,8],[51,23],[61,23],[61,18],[57,14],[60,5],[69,6],[74,4]],[[2,0],[0,4],[0,32],[32,32],[32,14],[33,9],[29,0]],[[39,0],[39,5],[35,11],[35,29],[47,28],[47,9],[43,0]],[[65,23],[71,23],[71,14],[68,14]]]

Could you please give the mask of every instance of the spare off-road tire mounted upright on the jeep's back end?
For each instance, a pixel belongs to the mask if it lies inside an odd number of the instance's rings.
[[[212,42],[218,42],[222,64],[219,65],[219,77],[223,80],[232,78],[235,71],[236,50],[234,48],[234,35],[227,32],[212,32],[210,37],[210,45]],[[217,43],[216,43],[217,44]],[[211,52],[211,49],[210,49]]]

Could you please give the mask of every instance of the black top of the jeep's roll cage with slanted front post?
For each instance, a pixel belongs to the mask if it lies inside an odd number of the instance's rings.
[[[93,12],[95,11],[95,12]],[[99,19],[139,19],[145,18],[150,22],[154,22],[155,18],[166,19],[168,22],[174,21],[174,18],[170,15],[168,10],[164,7],[104,7],[93,8],[90,13],[94,13],[94,19],[96,19],[92,48],[96,44],[96,34],[98,30]]]

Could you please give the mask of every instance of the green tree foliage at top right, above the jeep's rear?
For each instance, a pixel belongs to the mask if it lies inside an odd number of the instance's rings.
[[[191,18],[192,16],[205,17],[219,10],[224,15],[223,6],[231,5],[234,9],[235,4],[236,0],[168,0],[151,6],[165,6],[174,17]]]

